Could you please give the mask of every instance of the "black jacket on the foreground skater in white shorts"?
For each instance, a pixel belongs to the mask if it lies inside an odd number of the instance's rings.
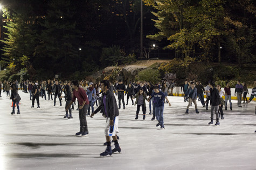
[[[103,104],[104,95],[106,95],[106,110]],[[114,93],[110,92],[109,90],[102,94],[102,97],[100,99],[100,106],[94,111],[94,113],[98,113],[100,110],[103,110],[103,115],[106,115],[110,118],[110,120],[114,120],[116,116],[119,116],[119,110],[116,104],[116,99],[114,97]]]

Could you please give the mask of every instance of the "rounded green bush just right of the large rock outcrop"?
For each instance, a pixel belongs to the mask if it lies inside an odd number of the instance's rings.
[[[140,71],[135,79],[136,80],[147,80],[153,84],[156,84],[156,83],[160,82],[160,72],[159,72],[159,70],[153,70],[153,69],[148,68],[143,71]]]

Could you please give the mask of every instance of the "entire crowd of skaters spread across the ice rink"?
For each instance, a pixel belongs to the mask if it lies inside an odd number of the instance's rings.
[[[238,107],[241,106],[241,99],[244,96],[244,103],[248,104],[254,97],[256,97],[256,79],[254,80],[255,87],[252,90],[252,94],[249,100],[247,100],[246,95],[248,93],[248,89],[246,83],[241,84],[240,81],[237,82],[235,94],[238,97]],[[40,108],[39,105],[39,97],[42,99],[46,99],[46,93],[48,95],[48,100],[53,100],[53,106],[56,106],[56,99],[59,99],[59,104],[62,106],[63,98],[66,101],[65,110],[66,114],[64,118],[73,119],[72,110],[74,110],[74,104],[77,99],[79,110],[79,120],[80,120],[80,131],[75,135],[87,136],[88,128],[86,122],[86,116],[93,117],[96,113],[101,112],[102,116],[106,117],[107,123],[105,128],[106,135],[106,143],[107,149],[105,152],[102,152],[101,156],[111,155],[114,152],[121,152],[121,148],[117,139],[119,137],[116,135],[118,133],[118,120],[119,120],[119,109],[121,109],[121,101],[123,109],[126,109],[126,105],[129,103],[129,99],[132,100],[132,105],[137,105],[136,116],[135,119],[139,119],[140,108],[142,109],[144,120],[146,118],[147,107],[146,102],[149,102],[149,115],[153,114],[151,120],[157,120],[158,123],[156,127],[160,125],[161,129],[164,129],[164,119],[163,119],[163,110],[164,105],[169,104],[171,106],[170,101],[167,96],[175,87],[175,82],[171,83],[164,81],[162,84],[159,82],[158,84],[153,85],[151,82],[137,81],[137,82],[129,82],[126,87],[122,80],[118,80],[112,85],[108,80],[102,80],[98,83],[88,82],[86,80],[76,80],[76,81],[65,81],[61,82],[58,79],[41,82],[31,82],[30,80],[23,81],[20,83],[20,87],[18,89],[18,81],[13,81],[11,84],[8,81],[0,82],[0,87],[3,88],[3,92],[6,93],[6,96],[10,97],[10,100],[13,101],[13,109],[11,114],[15,114],[15,104],[17,106],[18,112],[19,110],[19,101],[21,100],[18,90],[22,90],[24,93],[29,93],[30,100],[32,100],[32,106],[34,107],[34,101],[37,100],[37,108]],[[100,92],[101,88],[101,92]],[[10,94],[11,90],[11,94]],[[216,123],[215,125],[219,125],[219,117],[221,120],[224,119],[223,106],[225,105],[225,110],[227,110],[227,100],[230,103],[230,109],[232,110],[231,103],[231,87],[229,83],[226,83],[224,91],[220,85],[216,85],[213,81],[209,81],[209,84],[204,88],[202,83],[196,80],[185,81],[183,86],[181,87],[181,91],[184,92],[184,102],[188,101],[188,106],[186,108],[185,114],[189,114],[189,107],[192,103],[195,105],[195,111],[199,114],[197,107],[197,97],[201,102],[202,106],[208,110],[209,101],[211,106],[211,121],[209,125],[213,124],[213,116],[216,115]],[[1,90],[2,92],[2,90]],[[0,92],[0,97],[1,96]],[[64,97],[63,97],[64,93]],[[206,100],[204,100],[204,93],[206,94]],[[114,94],[118,96],[118,106],[117,101],[114,97]],[[124,102],[124,95],[127,95],[127,101]],[[225,96],[225,101],[223,100],[223,96]],[[51,97],[51,98],[50,98]],[[134,102],[135,99],[135,102]],[[245,102],[245,100],[247,102]],[[94,105],[98,107],[94,110]],[[71,108],[72,106],[72,108]],[[90,112],[91,108],[91,112]],[[69,114],[68,114],[69,113]],[[92,113],[92,114],[90,114]],[[256,114],[256,106],[255,106],[255,114]],[[256,131],[255,131],[256,132]],[[115,143],[115,148],[111,150],[110,146],[110,137],[113,137],[113,142]]]

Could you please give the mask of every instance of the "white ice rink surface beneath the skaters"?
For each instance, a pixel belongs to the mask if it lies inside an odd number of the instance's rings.
[[[89,135],[77,137],[78,111],[64,119],[65,101],[56,107],[40,98],[41,108],[30,108],[28,93],[19,91],[20,115],[11,115],[11,101],[0,98],[0,169],[256,169],[256,102],[225,110],[220,125],[209,126],[210,110],[197,101],[185,114],[188,102],[168,97],[164,125],[151,121],[147,102],[146,120],[135,120],[136,107],[120,109],[121,153],[100,157],[105,151],[106,119],[98,113],[87,117]],[[64,95],[64,94],[63,94]],[[126,97],[124,97],[126,101]],[[35,102],[36,103],[36,102]],[[36,107],[36,104],[35,104]],[[77,105],[75,105],[75,109]],[[94,105],[96,108],[96,105]],[[16,109],[17,113],[17,109]],[[214,122],[215,123],[215,122]]]

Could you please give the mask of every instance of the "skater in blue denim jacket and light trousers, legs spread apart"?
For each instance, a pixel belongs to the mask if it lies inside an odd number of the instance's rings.
[[[195,105],[195,108],[196,108],[196,113],[199,113],[198,112],[198,109],[197,109],[197,88],[195,87],[195,82],[191,82],[190,83],[190,86],[189,89],[186,91],[185,95],[184,95],[184,99],[185,98],[188,98],[189,99],[189,104],[188,106],[186,107],[186,114],[189,113],[189,107],[191,105],[191,103],[193,102],[193,104]]]

